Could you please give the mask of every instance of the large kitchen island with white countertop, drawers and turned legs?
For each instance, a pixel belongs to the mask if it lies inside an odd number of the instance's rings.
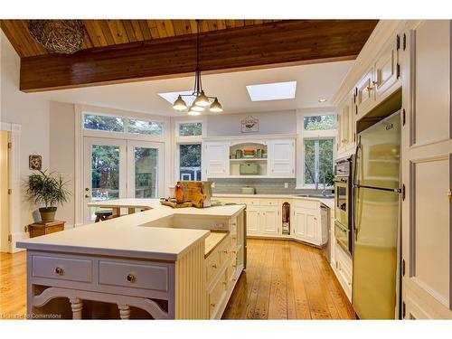
[[[106,203],[146,211],[17,243],[27,249],[27,313],[221,318],[246,265],[245,205],[172,209],[147,199]]]

